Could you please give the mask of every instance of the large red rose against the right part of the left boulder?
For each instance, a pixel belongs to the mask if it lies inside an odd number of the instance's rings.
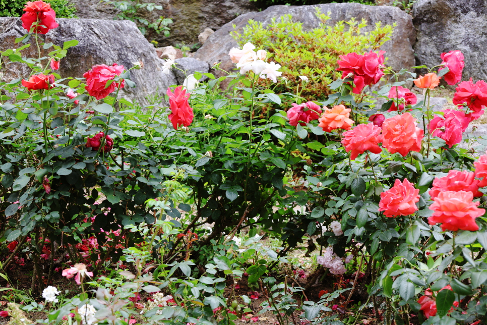
[[[121,82],[112,82],[107,88],[105,88],[108,80],[112,80],[115,76],[121,75],[124,72],[124,66],[119,66],[114,63],[112,66],[108,67],[104,64],[99,64],[92,66],[91,70],[85,72],[83,77],[86,78],[86,87],[90,96],[94,96],[96,99],[100,100],[108,96],[108,94],[115,91],[115,87],[124,88],[125,80]]]

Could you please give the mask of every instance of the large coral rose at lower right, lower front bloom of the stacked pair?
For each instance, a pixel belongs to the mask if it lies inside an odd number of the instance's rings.
[[[475,218],[483,215],[484,209],[477,206],[480,202],[472,202],[473,193],[466,191],[444,191],[438,193],[430,205],[433,215],[428,218],[430,225],[441,223],[443,231],[478,230]]]

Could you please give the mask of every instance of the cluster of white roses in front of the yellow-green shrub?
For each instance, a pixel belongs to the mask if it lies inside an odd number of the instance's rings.
[[[267,52],[263,49],[256,52],[252,43],[246,43],[242,49],[233,47],[228,55],[231,61],[237,64],[237,68],[240,68],[241,74],[252,71],[260,78],[267,78],[273,82],[277,82],[277,77],[282,75],[282,72],[277,71],[281,66],[275,62],[265,62]]]

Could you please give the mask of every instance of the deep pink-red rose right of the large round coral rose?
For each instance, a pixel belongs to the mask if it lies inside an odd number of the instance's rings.
[[[449,148],[462,141],[462,133],[467,129],[470,119],[465,113],[455,110],[444,110],[443,117],[435,116],[428,129],[434,137],[445,140]]]

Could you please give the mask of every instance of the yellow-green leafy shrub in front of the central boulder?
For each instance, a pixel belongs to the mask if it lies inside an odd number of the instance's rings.
[[[357,22],[354,18],[327,26],[325,23],[330,19],[330,13],[322,14],[317,8],[316,15],[321,20],[320,25],[309,31],[303,31],[302,23],[293,22],[291,15],[284,15],[273,18],[266,27],[262,22],[249,20],[243,32],[231,32],[239,46],[251,42],[257,48],[267,50],[268,58],[282,66],[280,71],[287,82],[277,85],[276,93],[295,92],[299,76],[307,76],[309,82],[301,96],[307,100],[325,98],[332,92],[328,85],[341,77],[335,70],[338,57],[350,52],[378,50],[390,39],[394,28],[377,23],[374,30],[364,32],[366,20]],[[269,83],[266,79],[259,82],[265,86]]]

